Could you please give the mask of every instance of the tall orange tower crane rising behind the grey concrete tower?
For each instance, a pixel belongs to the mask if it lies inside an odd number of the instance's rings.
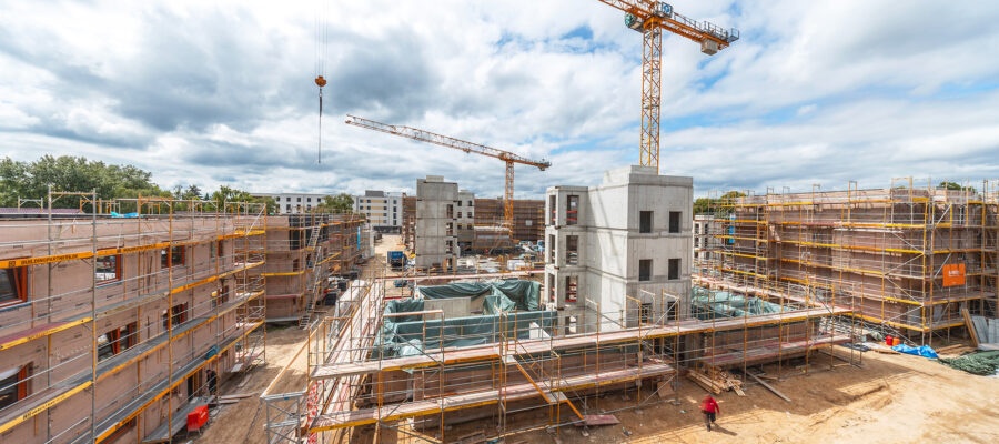
[[[692,20],[655,0],[598,0],[625,12],[625,26],[642,32],[642,165],[659,171],[659,68],[663,30],[700,43],[700,52],[714,56],[739,39],[735,28],[722,29],[707,21]]]

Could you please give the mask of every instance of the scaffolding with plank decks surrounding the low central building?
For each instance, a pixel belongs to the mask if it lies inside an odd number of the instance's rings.
[[[849,309],[817,297],[775,293],[770,301],[779,310],[773,312],[677,319],[688,312],[679,306],[687,295],[645,292],[614,311],[603,310],[595,295],[581,295],[587,310],[572,319],[514,310],[480,316],[476,322],[492,326],[471,329],[471,319],[448,322],[441,310],[385,310],[386,284],[391,279],[366,276],[334,315],[313,325],[299,352],[309,354],[304,387],[273,393],[286,367],[261,396],[269,443],[443,443],[458,438],[463,424],[482,431],[483,440],[557,433],[593,415],[676,401],[682,369],[707,379],[726,369],[745,377],[751,366],[776,361],[780,369],[789,359],[831,369],[833,345],[851,341],[850,325],[838,325]],[[386,353],[379,344],[396,331],[398,316],[416,331],[405,341],[415,345]],[[851,353],[842,365],[857,362]],[[602,397],[607,392],[628,392],[635,402],[610,406]],[[542,421],[538,410],[546,412]]]

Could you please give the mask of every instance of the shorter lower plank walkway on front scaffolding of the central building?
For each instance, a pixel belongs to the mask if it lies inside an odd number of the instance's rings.
[[[642,366],[617,369],[601,373],[586,373],[573,376],[564,376],[558,386],[555,381],[546,381],[545,385],[553,387],[553,392],[583,390],[599,385],[628,382],[638,379],[653,377],[673,373],[673,366],[664,363],[648,363]],[[502,393],[505,401],[519,401],[541,396],[531,383],[509,385]],[[485,390],[481,392],[464,393],[441,398],[403,402],[383,405],[381,408],[362,408],[345,412],[335,412],[320,415],[315,418],[309,433],[327,430],[355,427],[364,424],[373,424],[380,421],[405,420],[407,417],[441,414],[462,408],[477,407],[500,402],[498,390]],[[566,396],[557,396],[558,402],[568,402]]]

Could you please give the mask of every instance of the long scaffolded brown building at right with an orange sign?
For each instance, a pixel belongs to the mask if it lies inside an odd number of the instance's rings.
[[[961,310],[996,316],[997,181],[947,189],[892,180],[884,189],[727,193],[713,199],[698,278],[850,306],[865,327],[934,344]],[[739,196],[741,195],[741,196]],[[790,285],[790,286],[789,286]]]

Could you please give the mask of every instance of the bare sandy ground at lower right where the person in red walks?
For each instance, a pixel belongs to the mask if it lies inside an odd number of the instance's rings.
[[[847,355],[838,349],[838,355]],[[825,356],[828,359],[828,356]],[[839,362],[837,361],[837,364]],[[813,365],[808,374],[785,370],[770,383],[791,398],[785,402],[763,386],[744,385],[746,397],[716,396],[718,425],[707,432],[698,410],[706,392],[686,379],[679,405],[662,403],[638,412],[616,413],[619,425],[564,427],[557,435],[533,432],[508,443],[996,443],[999,442],[999,379],[952,370],[910,355],[864,353],[862,367],[828,370]],[[771,375],[776,367],[767,367]],[[601,400],[614,410],[627,404],[619,394]],[[627,432],[630,435],[626,435]],[[458,436],[458,435],[455,435]]]

